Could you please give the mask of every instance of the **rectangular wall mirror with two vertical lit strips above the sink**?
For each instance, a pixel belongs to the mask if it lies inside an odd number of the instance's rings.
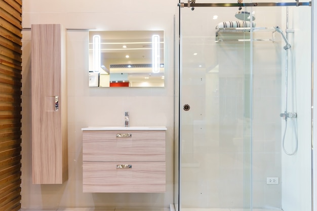
[[[164,87],[164,31],[90,31],[89,87]]]

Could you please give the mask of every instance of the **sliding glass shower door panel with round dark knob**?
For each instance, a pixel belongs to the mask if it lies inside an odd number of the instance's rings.
[[[250,41],[217,42],[213,19],[235,10],[181,10],[182,210],[250,204]]]

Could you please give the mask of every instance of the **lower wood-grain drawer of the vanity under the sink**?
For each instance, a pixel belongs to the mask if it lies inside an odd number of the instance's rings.
[[[83,192],[165,192],[165,170],[165,161],[84,162]]]

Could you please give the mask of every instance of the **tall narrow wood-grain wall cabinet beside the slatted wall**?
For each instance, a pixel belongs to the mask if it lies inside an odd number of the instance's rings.
[[[60,24],[31,25],[33,184],[68,179],[65,35]]]

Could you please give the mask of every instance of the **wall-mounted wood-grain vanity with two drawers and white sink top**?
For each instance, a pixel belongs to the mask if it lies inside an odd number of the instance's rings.
[[[166,191],[165,127],[83,130],[83,192]]]

